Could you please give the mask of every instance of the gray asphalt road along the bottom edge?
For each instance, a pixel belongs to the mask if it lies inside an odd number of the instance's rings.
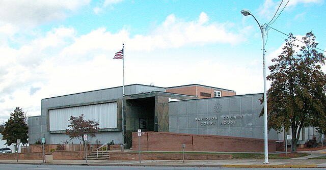
[[[168,166],[83,166],[83,165],[32,165],[32,164],[0,164],[0,169],[2,170],[20,170],[20,169],[26,169],[26,170],[69,170],[69,169],[80,169],[80,170],[101,170],[101,169],[113,169],[113,170],[135,170],[135,169],[250,169],[250,168],[227,168],[227,167],[168,167]],[[255,168],[255,170],[259,169],[283,169],[283,168]],[[291,168],[292,169],[320,169],[320,168]]]

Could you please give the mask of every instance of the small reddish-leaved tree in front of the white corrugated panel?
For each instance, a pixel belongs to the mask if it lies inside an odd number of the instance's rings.
[[[85,145],[84,134],[90,137],[95,137],[99,129],[97,121],[84,120],[84,115],[79,117],[70,116],[69,119],[70,129],[66,129],[66,134],[69,135],[70,139],[77,138],[82,140]]]

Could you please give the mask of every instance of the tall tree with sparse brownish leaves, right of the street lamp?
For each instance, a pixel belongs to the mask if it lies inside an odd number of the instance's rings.
[[[321,71],[325,56],[316,50],[318,45],[312,32],[303,38],[299,49],[295,37],[285,40],[283,52],[269,66],[271,81],[267,96],[268,128],[292,132],[293,151],[302,128],[318,127],[325,131],[326,124],[326,76]],[[263,115],[263,109],[261,111]]]

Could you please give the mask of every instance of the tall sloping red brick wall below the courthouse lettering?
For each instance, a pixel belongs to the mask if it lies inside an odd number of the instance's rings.
[[[264,152],[264,140],[245,137],[145,132],[141,136],[143,151],[211,151]],[[138,135],[132,133],[132,150],[139,150]],[[268,140],[268,152],[276,152],[276,141]]]

